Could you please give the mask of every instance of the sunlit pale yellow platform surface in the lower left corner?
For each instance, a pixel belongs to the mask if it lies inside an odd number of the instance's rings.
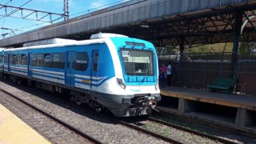
[[[0,104],[0,143],[50,143]]]

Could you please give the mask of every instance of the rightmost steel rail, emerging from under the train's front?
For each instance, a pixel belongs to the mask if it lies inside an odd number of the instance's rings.
[[[227,144],[238,144],[236,143],[235,141],[230,141],[228,139],[223,139],[221,137],[216,137],[214,135],[209,135],[209,134],[205,134],[205,133],[202,133],[202,132],[198,132],[198,131],[195,131],[195,130],[191,130],[191,129],[188,129],[188,128],[184,128],[182,126],[178,126],[177,124],[171,124],[169,122],[164,122],[162,120],[158,120],[156,118],[152,118],[152,117],[148,117],[148,120],[152,121],[152,122],[156,122],[156,123],[159,123],[159,124],[163,124],[165,126],[170,126],[172,128],[175,128],[177,130],[182,130],[184,132],[188,132],[190,134],[195,134],[195,135],[199,135],[201,137],[207,137],[208,139],[211,139],[213,141],[219,141],[221,143],[227,143]]]

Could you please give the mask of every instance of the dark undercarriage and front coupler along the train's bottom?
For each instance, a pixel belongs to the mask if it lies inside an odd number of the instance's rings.
[[[138,94],[135,96],[116,96],[113,103],[106,103],[102,99],[108,98],[106,94],[96,92],[79,92],[62,86],[56,86],[47,82],[26,79],[17,75],[0,73],[0,78],[10,80],[15,84],[26,84],[35,86],[49,92],[56,92],[62,96],[70,97],[70,100],[77,105],[87,104],[91,109],[100,113],[109,113],[111,111],[117,117],[128,117],[137,115],[147,115],[152,110],[156,110],[156,104],[160,101],[160,96],[150,96],[150,94]],[[112,96],[113,99],[113,96]],[[157,111],[157,110],[156,110]]]

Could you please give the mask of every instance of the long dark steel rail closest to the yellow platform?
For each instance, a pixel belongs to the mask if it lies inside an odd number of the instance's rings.
[[[4,92],[5,94],[11,96],[12,98],[17,99],[18,101],[24,103],[25,105],[27,105],[28,107],[31,107],[32,109],[34,109],[35,111],[38,111],[39,113],[45,115],[48,118],[51,118],[51,120],[54,120],[55,122],[58,122],[59,124],[61,124],[62,126],[64,126],[65,128],[68,128],[69,130],[71,130],[72,132],[74,132],[77,135],[80,135],[81,137],[87,139],[88,141],[91,141],[91,143],[95,143],[95,144],[102,144],[102,141],[99,141],[98,139],[96,139],[95,137],[85,134],[84,132],[81,132],[81,130],[75,128],[74,126],[71,126],[70,124],[64,122],[63,120],[60,120],[57,117],[54,117],[53,115],[51,115],[50,113],[47,113],[41,109],[39,109],[38,107],[35,107],[34,105],[24,101],[23,99],[18,98],[17,96],[14,96],[13,94],[11,94],[10,92],[7,92],[6,90],[3,90],[0,88],[1,92]]]

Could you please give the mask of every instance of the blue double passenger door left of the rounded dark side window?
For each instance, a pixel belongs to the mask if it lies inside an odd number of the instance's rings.
[[[74,86],[74,69],[72,68],[73,57],[75,58],[75,52],[66,52],[66,73],[65,84]]]

